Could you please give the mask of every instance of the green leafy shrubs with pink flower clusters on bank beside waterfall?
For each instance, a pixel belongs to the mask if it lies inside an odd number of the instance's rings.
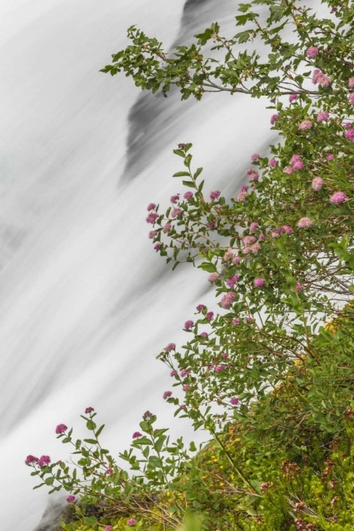
[[[252,11],[260,5],[267,16]],[[237,176],[249,182],[234,198],[205,193],[192,144],[174,150],[182,169],[173,177],[186,190],[165,211],[148,205],[149,238],[173,269],[199,268],[216,299],[186,316],[185,345],[169,343],[157,358],[172,381],[162,398],[210,442],[199,449],[193,442],[187,449],[183,438],[171,442],[147,411],[116,459],[101,447],[92,408],[82,416],[91,433],[85,440],[59,424],[74,468],[46,455],[25,462],[38,486],[69,493],[87,529],[121,529],[118,515],[125,530],[354,525],[346,460],[354,416],[354,12],[352,2],[337,8],[327,0],[324,8],[317,18],[295,0],[240,4],[241,33],[224,38],[215,23],[172,55],[133,27],[132,45],[103,69],[165,96],[171,84],[184,99],[205,91],[265,96],[282,141],[250,154]],[[289,26],[295,43],[285,40]],[[252,51],[260,41],[266,59]],[[210,42],[215,55],[205,58]],[[98,515],[88,515],[90,506]],[[198,523],[188,520],[194,513]]]

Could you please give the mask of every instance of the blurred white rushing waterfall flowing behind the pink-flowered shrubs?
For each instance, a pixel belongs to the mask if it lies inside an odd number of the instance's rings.
[[[178,142],[193,142],[206,191],[239,190],[271,139],[270,110],[224,93],[140,95],[98,70],[129,25],[171,46],[212,21],[231,30],[235,11],[224,0],[1,1],[1,531],[34,530],[48,498],[31,490],[25,456],[65,458],[55,426],[76,425],[86,406],[115,453],[147,408],[190,434],[161,399],[169,374],[154,358],[212,292],[206,273],[171,273],[156,256],[145,209],[183,191],[171,179]]]

